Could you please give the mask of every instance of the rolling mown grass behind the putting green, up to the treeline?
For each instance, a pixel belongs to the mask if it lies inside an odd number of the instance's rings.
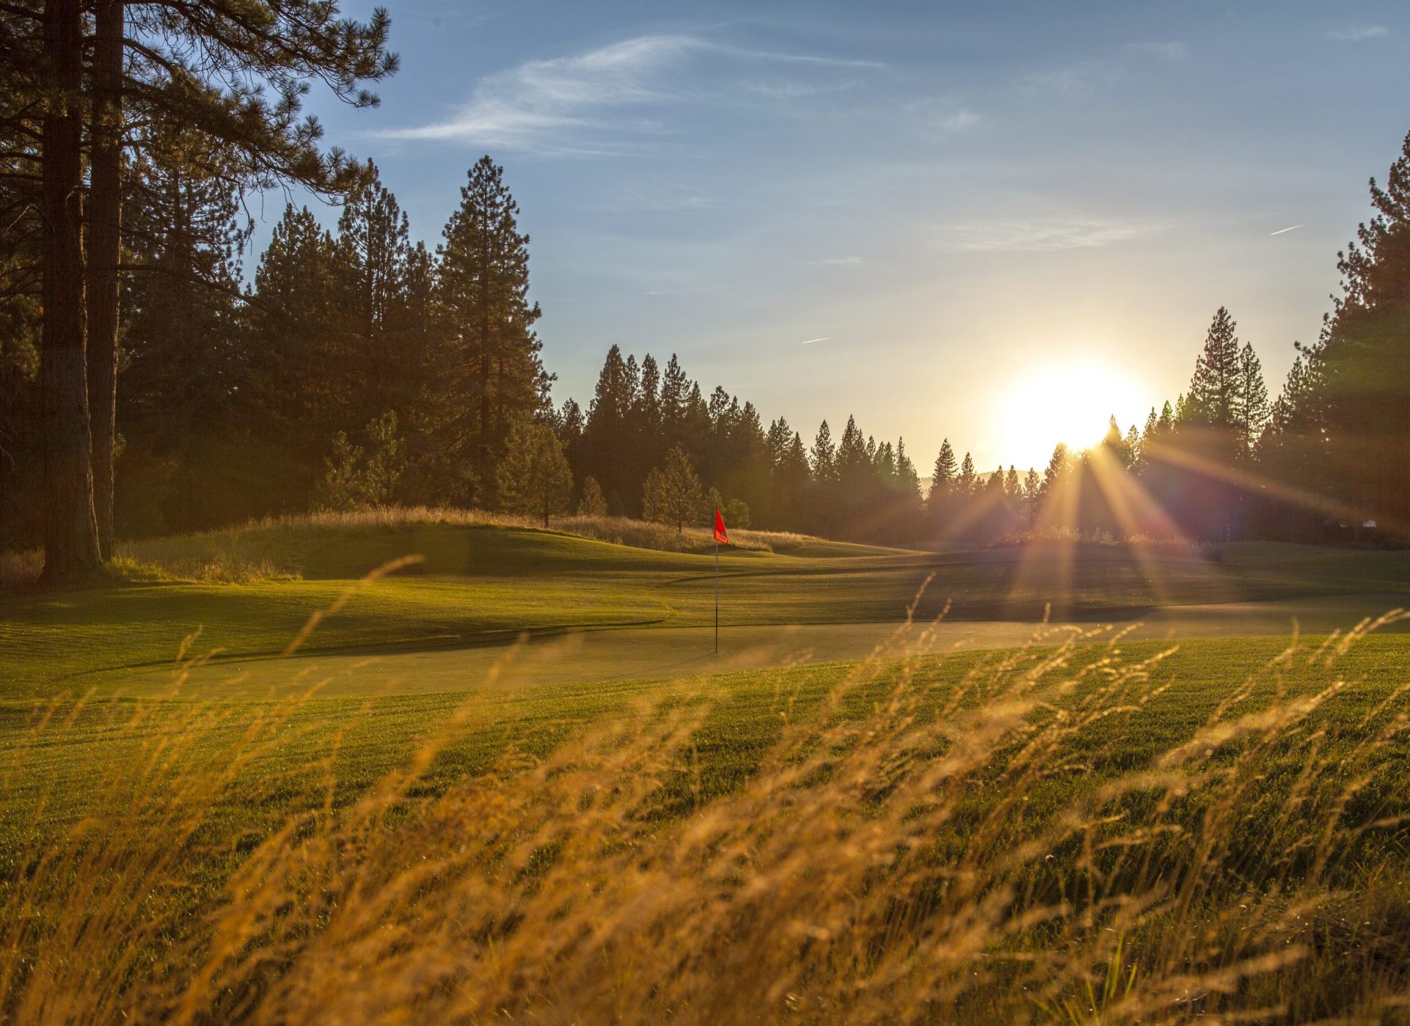
[[[711,555],[527,527],[281,521],[145,544],[149,568],[224,552],[227,561],[235,554],[296,576],[0,595],[0,695],[83,691],[120,679],[113,671],[159,667],[197,630],[202,647],[219,650],[220,660],[276,655],[312,612],[406,555],[422,562],[362,589],[320,624],[305,651],[482,645],[523,633],[704,626],[713,616]],[[1410,600],[1410,554],[1272,544],[933,554],[798,540],[781,551],[725,548],[721,574],[725,626],[895,623],[918,593],[919,620],[946,607],[952,620],[1101,622],[1208,603],[1297,599],[1316,609],[1330,596],[1371,595],[1365,612],[1379,612]]]

